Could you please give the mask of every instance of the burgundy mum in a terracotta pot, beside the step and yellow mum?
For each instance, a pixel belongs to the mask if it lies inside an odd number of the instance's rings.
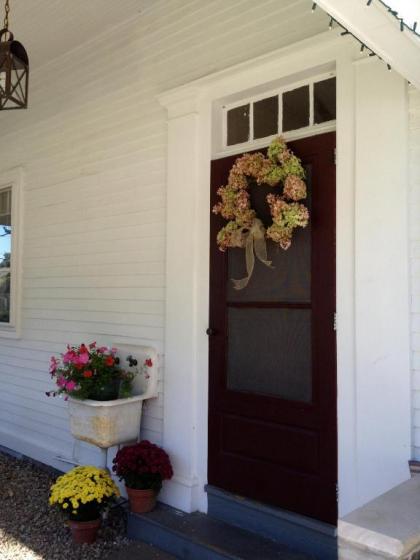
[[[143,440],[120,449],[113,462],[112,470],[124,480],[130,510],[134,513],[152,511],[162,481],[173,475],[168,454],[161,447]]]

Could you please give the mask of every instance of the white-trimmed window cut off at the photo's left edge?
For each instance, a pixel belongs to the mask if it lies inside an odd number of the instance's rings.
[[[0,337],[19,334],[21,186],[19,170],[0,174]]]

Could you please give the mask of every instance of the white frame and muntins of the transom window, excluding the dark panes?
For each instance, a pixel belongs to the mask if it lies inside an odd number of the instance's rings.
[[[297,140],[299,138],[304,138],[306,136],[313,136],[315,134],[321,134],[323,132],[331,132],[336,128],[336,119],[325,121],[323,123],[314,124],[314,84],[316,82],[322,82],[323,80],[328,80],[329,78],[337,78],[335,71],[326,71],[322,72],[310,77],[306,77],[305,79],[293,81],[288,84],[284,84],[281,87],[270,88],[265,90],[264,92],[258,93],[257,95],[249,95],[246,97],[241,97],[240,99],[236,99],[233,102],[223,104],[221,107],[221,139],[219,140],[218,144],[220,146],[220,150],[218,150],[217,157],[223,157],[225,155],[236,154],[237,152],[242,151],[249,151],[254,148],[261,148],[267,146],[274,138],[279,135],[282,135],[286,138],[286,140]],[[302,86],[309,86],[309,125],[297,128],[294,130],[290,130],[287,132],[283,132],[282,125],[283,125],[283,103],[282,97],[283,93],[288,91],[293,91]],[[276,134],[271,136],[266,136],[264,138],[257,138],[254,139],[254,103],[257,101],[261,101],[262,99],[266,99],[267,97],[273,97],[277,95],[278,97],[278,122],[277,122],[277,130]],[[236,107],[240,107],[241,105],[249,104],[249,135],[250,140],[247,142],[242,142],[240,144],[227,144],[227,114],[228,111],[231,109],[235,109]]]

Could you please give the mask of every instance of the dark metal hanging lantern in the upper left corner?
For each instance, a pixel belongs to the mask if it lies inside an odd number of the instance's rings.
[[[24,46],[9,31],[9,0],[0,31],[0,111],[28,106],[29,61]]]

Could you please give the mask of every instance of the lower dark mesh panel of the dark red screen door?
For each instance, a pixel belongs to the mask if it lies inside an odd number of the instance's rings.
[[[311,310],[228,311],[227,387],[310,402]]]

